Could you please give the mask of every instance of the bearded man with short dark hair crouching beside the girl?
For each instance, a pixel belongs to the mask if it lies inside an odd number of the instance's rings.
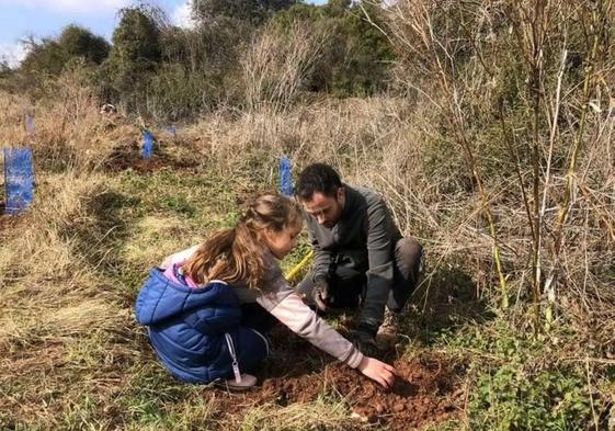
[[[402,238],[378,194],[342,183],[328,165],[304,169],[295,192],[316,254],[299,294],[321,311],[361,306],[355,332],[360,348],[390,347],[397,340],[398,316],[418,283],[422,247]]]

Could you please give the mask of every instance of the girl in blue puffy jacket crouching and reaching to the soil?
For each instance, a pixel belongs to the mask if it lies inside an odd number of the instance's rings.
[[[364,356],[304,304],[280,269],[303,227],[294,201],[263,194],[248,203],[232,229],[175,253],[155,268],[136,302],[139,324],[162,364],[190,383],[223,382],[242,389],[269,353],[271,316],[314,345],[384,387],[392,366]],[[232,378],[231,378],[232,377]]]

